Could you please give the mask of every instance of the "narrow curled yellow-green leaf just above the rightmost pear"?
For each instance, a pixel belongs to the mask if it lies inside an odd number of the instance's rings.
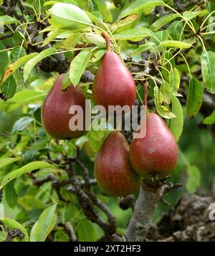
[[[160,92],[159,87],[157,85],[154,87],[154,96],[155,96],[155,104],[156,104],[156,109],[158,111],[158,114],[161,115],[163,118],[167,118],[167,119],[175,118],[176,115],[171,113],[171,111],[168,110],[168,108],[161,105],[163,103],[163,95]]]

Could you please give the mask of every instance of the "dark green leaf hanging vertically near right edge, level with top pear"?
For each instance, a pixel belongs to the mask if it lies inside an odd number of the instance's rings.
[[[191,77],[188,86],[188,95],[186,100],[186,118],[196,118],[203,101],[204,86],[199,80]]]

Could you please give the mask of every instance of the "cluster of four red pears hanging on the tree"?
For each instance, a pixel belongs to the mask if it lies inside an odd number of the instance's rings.
[[[60,75],[54,82],[42,108],[42,122],[53,138],[78,138],[85,131],[70,131],[69,109],[80,105],[85,113],[85,95],[79,86],[70,85],[62,91]],[[108,51],[102,57],[92,85],[92,98],[97,105],[129,105],[135,103],[136,88],[132,75],[118,57]],[[85,118],[85,117],[84,117]],[[142,179],[159,178],[173,171],[178,159],[178,146],[166,123],[156,113],[146,113],[143,138],[133,138],[130,146],[119,131],[112,131],[105,139],[95,159],[97,183],[105,194],[127,196],[138,190]],[[138,134],[138,133],[137,133]]]

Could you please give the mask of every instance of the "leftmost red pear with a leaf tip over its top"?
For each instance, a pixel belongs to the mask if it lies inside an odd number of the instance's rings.
[[[85,118],[85,95],[77,85],[70,85],[62,91],[62,79],[65,74],[59,75],[54,82],[42,106],[42,123],[49,136],[57,139],[79,138],[85,131],[70,131],[70,107],[80,105]],[[85,119],[84,119],[85,120]],[[84,123],[85,128],[85,123]]]

